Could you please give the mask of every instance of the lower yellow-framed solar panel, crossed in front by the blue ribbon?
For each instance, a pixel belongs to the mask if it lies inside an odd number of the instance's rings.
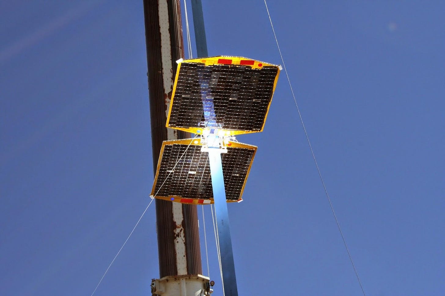
[[[209,154],[200,139],[164,141],[151,195],[188,204],[213,203]],[[256,146],[229,142],[222,153],[227,202],[239,201]]]

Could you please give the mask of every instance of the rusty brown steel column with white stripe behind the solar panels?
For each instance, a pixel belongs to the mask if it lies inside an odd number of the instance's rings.
[[[190,138],[166,128],[176,60],[184,56],[179,0],[144,0],[153,165],[162,141]],[[201,274],[196,205],[156,200],[160,277]]]

